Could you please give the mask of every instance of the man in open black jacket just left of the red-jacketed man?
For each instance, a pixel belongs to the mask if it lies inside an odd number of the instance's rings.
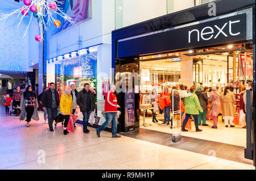
[[[77,96],[76,102],[80,107],[80,111],[82,112],[83,120],[82,120],[82,125],[83,125],[83,130],[84,133],[89,133],[89,129],[87,129],[87,125],[88,125],[88,120],[90,117],[90,112],[92,112],[92,110],[96,109],[96,102],[95,102],[95,98],[94,95],[92,93],[92,91],[89,90],[90,89],[90,85],[89,83],[85,83],[84,84],[84,89],[81,90]]]

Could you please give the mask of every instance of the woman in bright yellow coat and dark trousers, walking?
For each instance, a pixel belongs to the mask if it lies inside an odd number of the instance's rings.
[[[71,96],[71,89],[67,87],[64,94],[60,98],[60,113],[64,115],[64,130],[63,133],[67,135],[69,133],[67,131],[69,116],[73,110],[73,101]]]

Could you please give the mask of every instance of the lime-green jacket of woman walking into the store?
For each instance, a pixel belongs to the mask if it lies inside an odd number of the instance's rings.
[[[199,111],[203,112],[203,109],[200,106],[199,100],[195,92],[189,92],[185,96],[185,113],[190,115],[199,115]]]

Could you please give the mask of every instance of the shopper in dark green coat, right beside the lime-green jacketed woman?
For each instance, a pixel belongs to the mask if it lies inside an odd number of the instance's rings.
[[[205,87],[204,90],[201,89],[201,86],[198,86],[196,89],[196,95],[199,99],[200,106],[203,109],[203,112],[199,112],[198,116],[198,124],[201,125],[201,121],[203,120],[203,126],[208,126],[206,124],[206,117],[207,117],[207,105],[208,105],[208,98],[205,91],[207,91],[208,87]]]

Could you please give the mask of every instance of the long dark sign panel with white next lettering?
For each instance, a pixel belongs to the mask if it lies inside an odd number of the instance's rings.
[[[243,40],[246,40],[246,14],[119,40],[117,57],[138,56]]]

